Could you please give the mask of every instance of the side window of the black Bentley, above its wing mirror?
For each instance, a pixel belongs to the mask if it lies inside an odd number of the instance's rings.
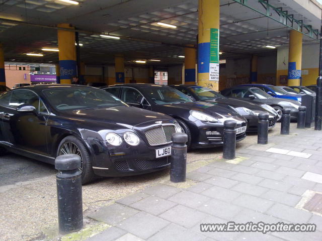
[[[39,99],[38,95],[29,90],[15,90],[12,92],[9,107],[16,108],[22,104],[29,104],[36,108],[38,112],[47,112],[47,109]]]

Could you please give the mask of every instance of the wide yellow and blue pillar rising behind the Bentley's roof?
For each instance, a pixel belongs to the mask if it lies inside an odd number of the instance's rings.
[[[58,24],[57,27],[64,29],[75,29],[69,24]],[[58,49],[60,83],[70,84],[72,76],[77,75],[75,32],[58,30]]]

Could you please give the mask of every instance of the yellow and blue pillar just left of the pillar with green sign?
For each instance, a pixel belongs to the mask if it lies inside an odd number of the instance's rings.
[[[196,49],[185,47],[185,84],[196,84]]]

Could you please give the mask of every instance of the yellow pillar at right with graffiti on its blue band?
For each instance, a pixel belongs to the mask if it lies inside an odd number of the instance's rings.
[[[300,85],[302,67],[302,33],[291,30],[288,46],[288,86]]]

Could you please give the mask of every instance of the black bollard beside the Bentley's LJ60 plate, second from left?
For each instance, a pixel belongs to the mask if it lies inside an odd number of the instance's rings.
[[[170,180],[172,182],[185,182],[187,169],[187,143],[185,133],[172,134]]]

